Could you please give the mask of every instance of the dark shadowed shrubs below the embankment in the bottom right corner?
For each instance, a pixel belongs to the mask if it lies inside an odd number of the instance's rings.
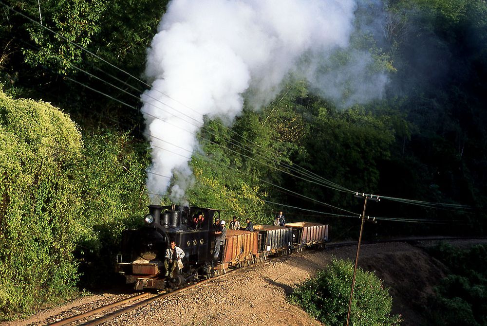
[[[441,244],[431,254],[450,270],[427,307],[429,325],[487,325],[487,246],[457,249]]]

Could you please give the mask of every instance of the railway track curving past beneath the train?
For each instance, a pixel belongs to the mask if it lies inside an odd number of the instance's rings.
[[[398,238],[398,239],[389,239],[389,240],[380,240],[380,241],[372,241],[372,242],[363,242],[362,245],[367,245],[367,244],[375,244],[375,243],[383,243],[383,242],[408,242],[408,243],[414,243],[417,241],[438,241],[438,240],[457,240],[457,239],[466,239],[464,237],[414,237],[414,238]],[[471,239],[471,238],[468,238]],[[485,237],[483,237],[485,239]],[[346,242],[329,242],[327,243],[326,247],[324,250],[330,250],[333,248],[338,248],[338,247],[346,247],[346,246],[356,246],[357,242],[356,241],[346,241]],[[320,249],[314,249],[308,252],[312,251],[319,251],[323,250],[322,248]],[[293,254],[296,254],[293,253]],[[292,254],[291,254],[292,255]],[[279,259],[282,257],[286,257],[288,255],[283,255],[283,256],[275,256],[270,259],[269,261],[272,261],[274,259]],[[131,310],[134,310],[136,308],[143,307],[147,304],[149,304],[152,301],[155,300],[163,300],[173,294],[180,293],[184,290],[189,290],[197,286],[201,286],[209,281],[213,281],[222,277],[225,277],[229,273],[237,272],[237,271],[242,271],[246,268],[253,267],[254,264],[244,266],[241,268],[229,270],[228,272],[225,272],[223,274],[220,274],[218,276],[202,280],[198,283],[188,285],[184,288],[174,290],[171,292],[164,292],[160,294],[154,294],[154,293],[149,293],[145,292],[139,295],[132,296],[131,298],[124,299],[117,301],[115,303],[102,306],[100,308],[93,309],[91,311],[69,317],[60,321],[56,321],[55,323],[49,324],[51,326],[61,326],[61,325],[84,325],[84,326],[94,326],[94,325],[100,325],[102,323],[105,323],[117,316],[120,316],[121,314],[128,313]]]

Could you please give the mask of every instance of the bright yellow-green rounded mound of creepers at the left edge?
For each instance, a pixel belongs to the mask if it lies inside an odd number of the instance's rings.
[[[51,105],[0,91],[0,315],[75,289],[81,134]]]

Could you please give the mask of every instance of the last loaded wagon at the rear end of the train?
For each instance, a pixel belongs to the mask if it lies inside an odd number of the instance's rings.
[[[293,244],[297,249],[324,245],[328,241],[328,224],[313,222],[286,223],[293,230]]]

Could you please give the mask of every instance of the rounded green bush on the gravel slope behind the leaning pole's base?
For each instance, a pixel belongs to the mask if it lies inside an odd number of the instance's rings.
[[[291,301],[321,323],[342,326],[347,320],[354,265],[334,259],[325,271],[305,281],[291,294]],[[391,315],[392,298],[374,273],[357,269],[350,315],[351,325],[399,325]]]

